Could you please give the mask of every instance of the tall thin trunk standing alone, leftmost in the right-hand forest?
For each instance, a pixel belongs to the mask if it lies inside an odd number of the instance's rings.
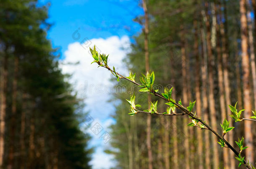
[[[146,6],[146,0],[142,0],[143,10],[145,13],[145,25],[144,25],[144,50],[145,50],[145,68],[146,72],[149,72],[149,45],[148,45],[148,34],[149,34],[149,17],[148,10]],[[148,102],[150,108],[151,95],[148,94]],[[147,148],[148,148],[148,157],[149,157],[149,169],[153,169],[152,161],[152,150],[151,150],[151,115],[147,116],[147,131],[146,131],[146,140],[147,140]]]

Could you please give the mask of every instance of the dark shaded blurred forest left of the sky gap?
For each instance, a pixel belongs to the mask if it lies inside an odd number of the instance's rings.
[[[46,38],[49,6],[0,0],[1,169],[90,168],[83,102]]]

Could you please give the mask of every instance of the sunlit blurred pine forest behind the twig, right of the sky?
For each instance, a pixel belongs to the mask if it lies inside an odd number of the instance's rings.
[[[181,98],[183,105],[196,100],[196,114],[220,133],[219,124],[225,118],[231,120],[229,104],[238,101],[238,110],[246,109],[245,118],[253,115],[256,0],[143,0],[139,5],[145,15],[134,21],[143,30],[133,36],[131,53],[125,58],[133,73],[140,76],[149,69],[154,71],[155,84],[162,85],[157,86],[159,93],[168,85],[174,87],[174,98]],[[130,106],[125,99],[137,88],[128,81],[120,84],[128,88],[126,94],[115,94],[121,103],[113,114],[116,124],[111,126],[114,149],[105,150],[115,155],[116,168],[238,168],[232,151],[221,148],[209,131],[188,127],[187,117],[128,116]],[[158,99],[147,96],[136,92],[136,103],[144,109],[148,101]],[[166,105],[161,100],[158,103],[159,111],[164,112]],[[231,120],[230,125],[235,129],[226,139],[238,149],[235,141],[244,136],[249,148],[243,155],[255,164],[256,123]]]

